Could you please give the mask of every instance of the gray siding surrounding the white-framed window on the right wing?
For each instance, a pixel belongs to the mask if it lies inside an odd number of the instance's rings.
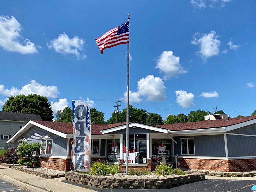
[[[180,138],[194,138],[195,156],[225,157],[224,135],[200,135],[200,136],[182,136],[174,137],[178,143],[178,155],[181,155]],[[174,143],[174,154],[176,144]]]

